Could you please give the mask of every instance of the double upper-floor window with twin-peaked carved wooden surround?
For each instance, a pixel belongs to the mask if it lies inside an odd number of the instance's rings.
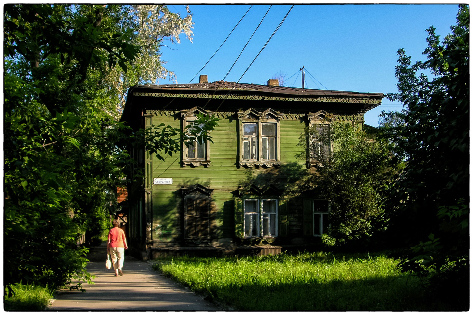
[[[268,109],[239,112],[239,166],[280,166],[280,114]]]

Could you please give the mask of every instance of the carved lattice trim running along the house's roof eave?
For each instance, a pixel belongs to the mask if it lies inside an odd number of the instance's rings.
[[[298,101],[298,102],[335,102],[335,103],[359,103],[380,105],[381,100],[369,98],[339,98],[339,97],[275,97],[259,95],[216,95],[216,94],[174,94],[174,93],[152,93],[152,92],[133,92],[133,96],[151,96],[151,97],[179,97],[179,98],[209,98],[224,100],[245,100],[245,101]]]

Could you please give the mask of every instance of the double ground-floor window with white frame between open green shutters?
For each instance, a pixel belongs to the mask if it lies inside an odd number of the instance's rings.
[[[244,199],[244,237],[277,236],[277,199]]]

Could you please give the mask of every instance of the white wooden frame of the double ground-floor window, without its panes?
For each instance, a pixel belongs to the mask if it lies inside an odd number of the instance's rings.
[[[245,204],[247,201],[256,201],[257,207],[256,212],[247,213],[245,212]],[[263,211],[263,201],[274,201],[275,210],[274,212]],[[243,237],[244,238],[276,238],[278,236],[278,199],[274,198],[250,198],[250,199],[243,199]],[[265,231],[263,230],[263,220],[266,214],[269,214],[269,235],[264,236]],[[275,235],[271,234],[271,215],[274,214],[274,231]],[[256,235],[247,235],[246,234],[246,216],[247,215],[256,215]]]

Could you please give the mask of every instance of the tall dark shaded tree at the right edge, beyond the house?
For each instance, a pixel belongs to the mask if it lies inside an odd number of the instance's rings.
[[[435,28],[427,29],[426,61],[411,64],[411,57],[403,49],[398,51],[399,93],[387,97],[402,102],[405,108],[384,113],[385,132],[395,145],[396,155],[406,161],[392,189],[390,212],[393,233],[402,235],[411,248],[404,253],[409,259],[402,267],[421,275],[435,272],[432,283],[438,288],[465,286],[462,279],[468,279],[467,5],[460,6],[451,30],[440,43]]]

